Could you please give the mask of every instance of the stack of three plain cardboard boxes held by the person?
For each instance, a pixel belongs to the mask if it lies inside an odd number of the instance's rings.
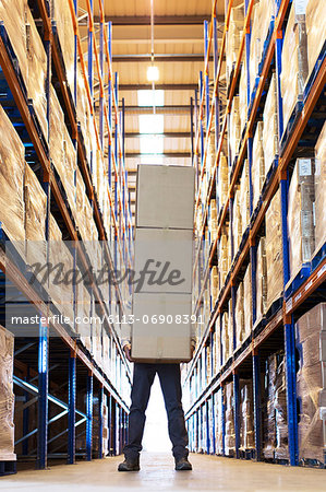
[[[138,165],[132,358],[191,359],[194,169]],[[194,325],[193,325],[194,326]]]

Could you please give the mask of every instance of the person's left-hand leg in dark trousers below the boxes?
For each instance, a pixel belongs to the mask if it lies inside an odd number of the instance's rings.
[[[131,391],[131,408],[129,413],[128,444],[123,453],[126,459],[134,460],[142,450],[142,440],[145,426],[145,411],[148,405],[150,387],[156,374],[154,364],[134,364],[134,375]]]

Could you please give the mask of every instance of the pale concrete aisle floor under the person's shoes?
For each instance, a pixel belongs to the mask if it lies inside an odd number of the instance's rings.
[[[190,455],[193,471],[174,471],[167,454],[143,453],[140,472],[117,471],[121,457],[57,465],[46,471],[20,471],[0,478],[7,492],[101,492],[101,491],[326,491],[325,470]]]

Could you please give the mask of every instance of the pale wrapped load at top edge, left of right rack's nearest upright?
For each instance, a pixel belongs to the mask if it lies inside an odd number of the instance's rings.
[[[259,0],[252,11],[252,31],[250,42],[250,86],[251,93],[258,75],[258,66],[263,61],[264,44],[267,39],[271,17],[275,13],[274,0]]]

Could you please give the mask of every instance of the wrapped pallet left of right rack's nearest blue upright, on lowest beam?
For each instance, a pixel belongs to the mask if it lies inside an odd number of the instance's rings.
[[[267,309],[283,290],[280,189],[266,211]]]

